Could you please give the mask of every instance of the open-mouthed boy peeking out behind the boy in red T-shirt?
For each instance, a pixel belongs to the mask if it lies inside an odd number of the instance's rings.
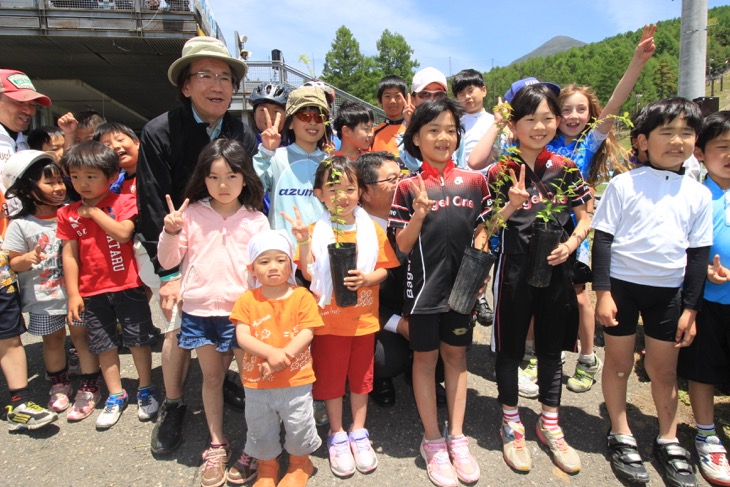
[[[94,132],[94,140],[116,152],[121,169],[119,179],[111,186],[113,193],[137,193],[137,158],[139,156],[139,138],[134,130],[123,123],[104,122]]]

